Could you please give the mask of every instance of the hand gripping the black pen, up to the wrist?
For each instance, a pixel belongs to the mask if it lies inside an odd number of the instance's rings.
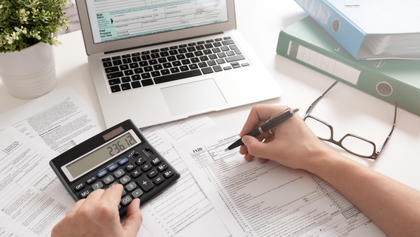
[[[316,156],[329,152],[328,147],[312,133],[311,129],[297,116],[291,116],[283,123],[272,128],[269,132],[258,137],[247,136],[255,128],[265,124],[275,114],[288,109],[278,105],[255,105],[239,133],[244,145],[239,153],[244,155],[246,161],[252,161],[255,157],[260,163],[267,159],[281,163],[290,168],[311,170],[319,165]],[[330,150],[332,151],[332,150]]]

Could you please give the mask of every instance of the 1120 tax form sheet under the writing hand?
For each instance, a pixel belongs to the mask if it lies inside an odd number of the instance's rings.
[[[274,161],[244,160],[237,118],[174,142],[232,236],[386,236],[320,177]]]

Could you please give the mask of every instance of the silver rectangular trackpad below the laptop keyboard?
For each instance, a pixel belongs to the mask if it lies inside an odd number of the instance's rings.
[[[214,79],[161,88],[173,116],[228,104]]]

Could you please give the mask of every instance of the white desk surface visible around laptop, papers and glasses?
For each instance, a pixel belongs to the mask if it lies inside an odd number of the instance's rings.
[[[302,115],[309,104],[334,82],[328,76],[276,55],[276,42],[281,29],[304,18],[307,14],[292,0],[238,0],[236,8],[238,29],[284,90],[280,98],[261,104],[285,104],[297,107],[300,108]],[[102,114],[87,65],[81,32],[64,34],[59,39],[62,41],[62,46],[55,48],[58,78],[55,90],[70,86],[87,104]],[[8,95],[1,81],[0,101],[0,114],[27,102]],[[221,123],[248,114],[252,105],[207,115],[216,123]],[[336,139],[346,133],[354,133],[380,146],[391,130],[393,105],[339,83],[316,104],[311,114],[334,126]],[[352,156],[337,147],[332,148],[395,180],[420,189],[418,181],[420,172],[417,171],[420,167],[419,125],[419,116],[398,109],[393,135],[376,161]]]

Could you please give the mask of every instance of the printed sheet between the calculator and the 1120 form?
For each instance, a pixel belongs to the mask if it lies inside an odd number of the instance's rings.
[[[213,125],[209,117],[201,115],[141,129],[148,142],[181,174],[175,184],[141,205],[143,225],[152,236],[230,236],[172,146],[181,137]]]

